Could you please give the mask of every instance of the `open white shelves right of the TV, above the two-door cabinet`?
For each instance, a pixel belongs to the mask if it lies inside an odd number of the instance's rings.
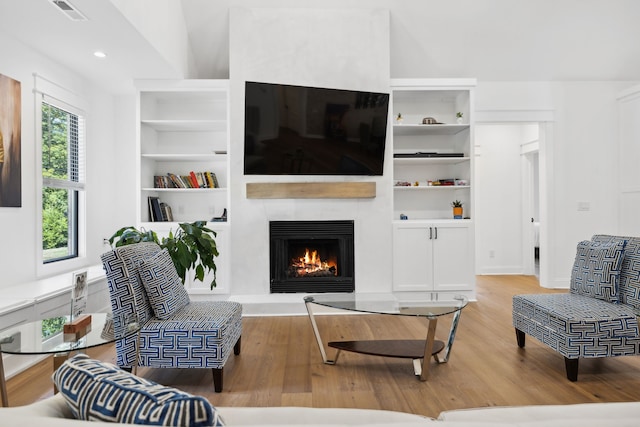
[[[452,218],[454,200],[472,217],[474,86],[472,79],[392,80],[394,219]]]

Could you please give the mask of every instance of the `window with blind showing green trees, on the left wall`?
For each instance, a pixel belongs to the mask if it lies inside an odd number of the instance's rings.
[[[57,104],[57,105],[54,105]],[[80,200],[84,192],[84,119],[43,97],[42,261],[77,258]]]

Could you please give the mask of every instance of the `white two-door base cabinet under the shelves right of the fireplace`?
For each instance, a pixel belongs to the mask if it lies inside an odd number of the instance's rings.
[[[395,221],[393,284],[395,291],[461,292],[473,297],[471,224]]]

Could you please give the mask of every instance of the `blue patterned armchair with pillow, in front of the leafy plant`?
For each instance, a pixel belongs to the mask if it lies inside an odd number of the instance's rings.
[[[240,354],[242,305],[191,302],[171,257],[155,243],[118,247],[102,255],[114,319],[116,363],[131,369],[211,368],[216,392],[231,352]],[[128,333],[135,319],[138,334]]]

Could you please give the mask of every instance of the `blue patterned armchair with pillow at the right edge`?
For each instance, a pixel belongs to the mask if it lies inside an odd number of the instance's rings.
[[[580,358],[640,354],[640,238],[595,235],[578,244],[569,293],[515,295],[518,346],[525,334],[557,351],[567,378]]]

